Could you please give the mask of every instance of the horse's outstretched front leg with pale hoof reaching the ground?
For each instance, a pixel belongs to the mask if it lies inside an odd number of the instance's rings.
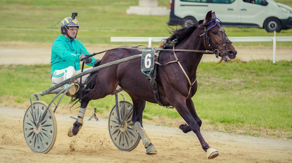
[[[213,159],[213,158],[217,157],[219,155],[218,151],[215,150],[214,148],[210,148],[208,143],[206,143],[206,141],[204,140],[204,138],[200,132],[199,124],[195,121],[194,117],[192,116],[190,110],[187,107],[185,97],[183,97],[183,96],[177,97],[174,100],[173,106],[178,111],[180,116],[182,116],[183,119],[190,126],[190,129],[197,135],[203,150],[205,152],[207,152],[208,159]]]

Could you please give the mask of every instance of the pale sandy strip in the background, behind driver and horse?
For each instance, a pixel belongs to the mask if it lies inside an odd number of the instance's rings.
[[[0,64],[49,64],[51,61],[51,44],[24,43],[24,42],[0,42]],[[86,46],[88,52],[97,53],[107,49],[116,48],[118,45],[91,44]],[[277,47],[276,61],[292,61],[292,48]],[[273,59],[272,47],[236,47],[237,58],[242,61],[257,59]],[[100,59],[104,54],[95,58]],[[214,55],[205,54],[203,62],[218,62]]]

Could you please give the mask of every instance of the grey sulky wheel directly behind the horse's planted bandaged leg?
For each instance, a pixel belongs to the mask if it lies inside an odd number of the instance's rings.
[[[132,110],[133,104],[128,100],[120,101],[121,121],[126,118],[126,115]],[[109,135],[112,142],[119,150],[131,151],[137,147],[140,142],[140,136],[132,122],[132,115],[126,119],[119,127],[116,105],[112,108],[109,114]]]

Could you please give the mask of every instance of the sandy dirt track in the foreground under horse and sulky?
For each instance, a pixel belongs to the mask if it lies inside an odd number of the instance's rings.
[[[142,142],[131,152],[118,150],[108,133],[107,119],[88,121],[77,136],[68,137],[75,112],[56,113],[58,134],[54,147],[47,154],[32,152],[25,143],[22,120],[25,109],[0,108],[1,162],[292,162],[292,142],[251,136],[202,131],[206,142],[220,155],[208,160],[194,133],[183,133],[176,127],[144,128],[158,150],[146,155]],[[203,124],[204,125],[204,124]]]

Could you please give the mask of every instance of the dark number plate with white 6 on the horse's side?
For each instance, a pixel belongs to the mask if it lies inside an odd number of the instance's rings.
[[[154,67],[154,52],[152,50],[142,53],[141,70],[150,71]]]

